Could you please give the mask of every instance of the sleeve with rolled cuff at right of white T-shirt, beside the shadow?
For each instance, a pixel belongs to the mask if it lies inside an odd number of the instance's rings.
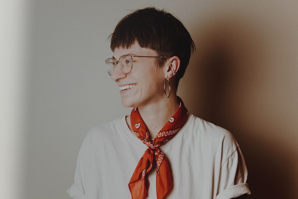
[[[248,197],[251,192],[246,180],[246,164],[240,147],[237,146],[236,150],[221,166],[220,184],[216,199]]]

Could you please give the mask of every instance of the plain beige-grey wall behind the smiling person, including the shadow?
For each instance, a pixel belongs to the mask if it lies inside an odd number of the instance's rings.
[[[150,5],[192,35],[178,94],[235,136],[251,198],[297,198],[298,1],[271,0],[1,1],[1,198],[69,198],[88,130],[131,110],[106,72],[107,38]]]

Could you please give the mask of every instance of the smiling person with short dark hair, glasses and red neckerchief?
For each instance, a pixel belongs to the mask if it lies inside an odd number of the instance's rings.
[[[135,10],[110,36],[105,63],[130,115],[94,127],[80,149],[72,198],[250,195],[230,132],[188,113],[176,95],[195,50],[184,25],[154,7]]]

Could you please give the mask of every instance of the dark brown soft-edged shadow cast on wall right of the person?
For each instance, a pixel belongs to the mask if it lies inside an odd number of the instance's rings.
[[[197,57],[182,83],[187,90],[179,92],[188,96],[190,112],[235,136],[249,170],[250,198],[297,198],[297,150],[284,136],[297,128],[280,116],[284,103],[267,95],[278,92],[270,86],[274,77],[267,77],[278,66],[270,63],[269,46],[275,41],[266,38],[263,25],[231,15],[200,24],[194,37]]]

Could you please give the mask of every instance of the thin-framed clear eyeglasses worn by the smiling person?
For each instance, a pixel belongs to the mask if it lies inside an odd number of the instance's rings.
[[[152,56],[122,55],[121,57],[119,57],[119,61],[117,61],[114,58],[108,58],[105,60],[105,64],[107,66],[109,75],[112,75],[112,72],[114,71],[117,64],[119,64],[119,68],[123,74],[130,73],[132,69],[133,57],[152,57]],[[158,56],[155,58],[170,58],[170,57]]]

